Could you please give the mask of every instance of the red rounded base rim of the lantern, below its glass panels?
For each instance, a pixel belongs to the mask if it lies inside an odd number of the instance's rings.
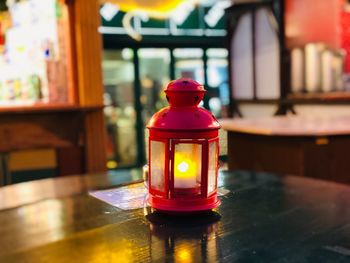
[[[165,213],[190,214],[210,211],[218,207],[221,201],[216,194],[208,198],[186,200],[164,199],[151,195],[148,198],[148,204],[152,208]]]

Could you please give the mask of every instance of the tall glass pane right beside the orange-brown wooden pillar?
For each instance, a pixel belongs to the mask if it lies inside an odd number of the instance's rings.
[[[107,126],[107,167],[134,165],[137,160],[133,51],[103,52],[104,105]]]

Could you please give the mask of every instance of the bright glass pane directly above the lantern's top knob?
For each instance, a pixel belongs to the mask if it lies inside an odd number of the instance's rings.
[[[176,48],[175,78],[191,78],[204,84],[203,50],[200,48]]]

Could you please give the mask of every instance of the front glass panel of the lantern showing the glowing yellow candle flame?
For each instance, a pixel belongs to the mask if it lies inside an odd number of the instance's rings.
[[[198,189],[202,173],[202,145],[195,143],[175,144],[174,187]]]

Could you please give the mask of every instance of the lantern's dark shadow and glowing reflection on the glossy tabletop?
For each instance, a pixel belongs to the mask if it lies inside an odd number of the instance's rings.
[[[162,262],[218,262],[220,215],[174,217],[150,213],[150,258]]]

